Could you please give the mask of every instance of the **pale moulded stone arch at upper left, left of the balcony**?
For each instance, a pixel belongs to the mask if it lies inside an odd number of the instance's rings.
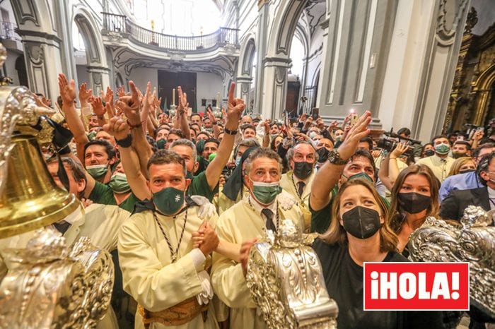
[[[74,8],[72,21],[83,36],[91,89],[93,94],[98,95],[104,86],[110,85],[110,69],[107,66],[103,40],[98,32],[100,28],[93,15],[81,6]]]

